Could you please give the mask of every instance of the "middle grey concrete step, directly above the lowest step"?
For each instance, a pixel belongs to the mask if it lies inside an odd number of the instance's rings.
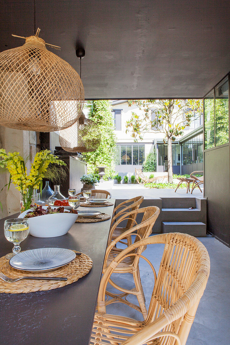
[[[201,211],[198,208],[162,208],[162,221],[200,221]]]

